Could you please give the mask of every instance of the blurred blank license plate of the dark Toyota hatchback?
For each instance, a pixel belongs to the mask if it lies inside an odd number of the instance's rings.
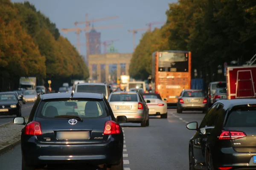
[[[67,140],[67,139],[77,139],[77,140],[87,140],[89,139],[89,132],[84,131],[84,132],[57,132],[56,139],[62,139],[62,140]]]

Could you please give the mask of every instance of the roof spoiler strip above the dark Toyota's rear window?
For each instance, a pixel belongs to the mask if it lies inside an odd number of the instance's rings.
[[[71,93],[51,93],[51,94],[42,94],[42,100],[46,99],[67,99],[71,98]],[[93,99],[102,99],[103,94],[97,93],[73,93],[73,98],[93,98]]]

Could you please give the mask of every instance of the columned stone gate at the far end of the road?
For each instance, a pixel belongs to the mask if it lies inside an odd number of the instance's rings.
[[[116,64],[116,77],[121,75],[121,64],[125,65],[125,75],[129,75],[129,65],[131,62],[132,53],[107,53],[107,54],[93,54],[88,56],[88,68],[90,79],[93,80],[93,65],[96,66],[97,81],[102,82],[101,66],[105,65],[105,79],[108,82],[109,65]],[[103,80],[104,81],[104,80]]]

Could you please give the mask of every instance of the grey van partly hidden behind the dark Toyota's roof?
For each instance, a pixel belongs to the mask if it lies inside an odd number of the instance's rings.
[[[82,93],[99,93],[103,94],[106,99],[110,94],[108,85],[106,83],[79,83],[76,85],[75,92],[82,92]]]

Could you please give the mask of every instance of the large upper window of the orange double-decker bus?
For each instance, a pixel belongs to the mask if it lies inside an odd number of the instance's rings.
[[[160,52],[158,71],[188,72],[188,53]]]

